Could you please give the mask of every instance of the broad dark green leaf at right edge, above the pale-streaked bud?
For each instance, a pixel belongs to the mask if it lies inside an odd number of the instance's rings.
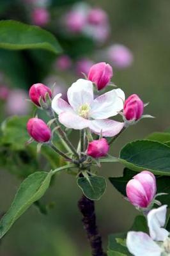
[[[132,141],[122,148],[120,162],[135,172],[150,170],[156,175],[170,175],[170,147],[157,141]]]

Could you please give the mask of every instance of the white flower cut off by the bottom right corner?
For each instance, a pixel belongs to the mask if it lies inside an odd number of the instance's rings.
[[[162,228],[166,223],[167,205],[153,209],[148,213],[150,236],[144,232],[130,231],[127,234],[127,248],[134,256],[170,255],[169,232]],[[158,243],[157,243],[158,242]]]

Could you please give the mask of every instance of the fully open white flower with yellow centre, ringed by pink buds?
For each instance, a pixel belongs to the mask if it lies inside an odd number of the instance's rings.
[[[121,89],[111,90],[93,97],[93,83],[78,79],[68,88],[68,104],[61,99],[61,93],[52,100],[52,109],[59,115],[59,122],[68,128],[84,129],[103,136],[112,137],[118,134],[124,126],[122,122],[107,119],[116,116],[123,109],[125,93]]]

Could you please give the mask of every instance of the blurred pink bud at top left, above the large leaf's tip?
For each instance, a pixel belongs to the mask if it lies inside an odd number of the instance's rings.
[[[45,8],[36,8],[32,13],[32,21],[36,26],[45,26],[50,20],[50,15]]]

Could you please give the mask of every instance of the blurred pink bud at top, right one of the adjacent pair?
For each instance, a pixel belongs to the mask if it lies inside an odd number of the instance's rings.
[[[104,24],[107,22],[107,13],[100,8],[92,9],[88,14],[88,22],[93,25]]]

